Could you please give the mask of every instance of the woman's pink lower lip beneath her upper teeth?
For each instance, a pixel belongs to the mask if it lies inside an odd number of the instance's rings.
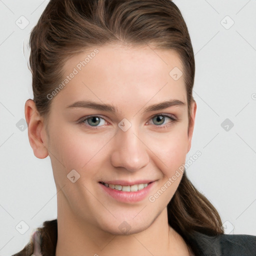
[[[101,183],[99,183],[99,185],[102,187],[102,189],[105,192],[107,192],[109,195],[111,195],[117,201],[138,202],[138,201],[143,200],[146,197],[146,195],[149,193],[149,190],[154,185],[154,182],[155,181],[151,182],[150,184],[148,184],[143,189],[137,190],[137,191],[134,191],[134,192],[125,192],[125,191],[122,191],[122,190],[117,190],[117,189],[105,186]]]

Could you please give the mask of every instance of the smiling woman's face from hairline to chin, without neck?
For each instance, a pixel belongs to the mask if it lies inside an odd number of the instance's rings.
[[[185,162],[196,109],[188,133],[181,71],[174,51],[148,46],[105,45],[67,60],[68,82],[51,94],[43,144],[62,188],[57,196],[73,216],[133,233],[166,209],[182,175],[166,182]]]

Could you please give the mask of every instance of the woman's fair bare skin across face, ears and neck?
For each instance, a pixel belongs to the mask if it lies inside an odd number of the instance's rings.
[[[189,255],[167,222],[166,205],[182,175],[155,201],[148,199],[185,163],[191,146],[196,103],[191,103],[189,124],[184,77],[169,75],[175,66],[183,71],[179,56],[148,45],[95,48],[99,52],[51,99],[47,125],[33,100],[25,103],[30,145],[36,157],[49,155],[58,191],[56,256]],[[91,51],[68,59],[64,74]],[[184,104],[144,112],[170,99]],[[78,100],[111,104],[117,110],[67,108]],[[88,115],[100,118],[78,123]],[[131,124],[126,131],[118,126],[123,118]],[[72,169],[80,175],[75,182],[66,176]],[[113,198],[99,183],[117,179],[154,182],[145,198],[129,202]],[[129,226],[125,235],[119,227],[127,225],[124,221]]]

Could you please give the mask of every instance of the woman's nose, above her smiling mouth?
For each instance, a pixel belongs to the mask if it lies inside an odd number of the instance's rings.
[[[133,126],[126,131],[117,130],[114,137],[114,150],[111,154],[113,166],[136,171],[148,164],[148,147],[136,133],[138,132],[135,132]]]

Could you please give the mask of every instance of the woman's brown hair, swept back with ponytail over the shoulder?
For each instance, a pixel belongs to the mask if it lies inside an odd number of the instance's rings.
[[[74,54],[104,43],[174,49],[182,61],[188,118],[194,100],[195,63],[187,26],[171,0],[50,0],[30,35],[32,87],[37,110],[47,119],[51,93]],[[186,241],[198,231],[223,233],[217,210],[184,171],[167,205],[168,222]]]

